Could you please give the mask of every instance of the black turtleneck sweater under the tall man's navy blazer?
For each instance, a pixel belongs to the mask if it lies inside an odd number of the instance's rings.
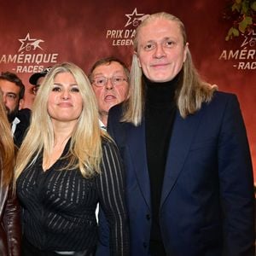
[[[143,80],[146,84],[146,148],[152,207],[150,253],[163,256],[166,252],[160,233],[159,210],[166,156],[176,112],[174,96],[178,75],[172,81],[165,83],[153,83],[145,77]]]

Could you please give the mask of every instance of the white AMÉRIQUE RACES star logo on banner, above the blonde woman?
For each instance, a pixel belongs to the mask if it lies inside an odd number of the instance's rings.
[[[0,64],[15,64],[12,69],[15,73],[38,73],[57,63],[57,53],[44,54],[42,51],[44,40],[41,38],[31,38],[30,33],[25,38],[20,38],[21,43],[18,54],[2,55]],[[40,53],[38,53],[40,51]]]

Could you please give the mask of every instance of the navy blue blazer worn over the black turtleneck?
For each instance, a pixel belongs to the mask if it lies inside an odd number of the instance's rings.
[[[121,123],[121,113],[121,106],[111,109],[108,131],[125,164],[131,255],[146,256],[151,203],[145,123]],[[159,218],[167,255],[254,255],[253,169],[235,95],[216,92],[212,102],[185,119],[177,111]],[[108,255],[102,213],[99,235],[97,255]]]

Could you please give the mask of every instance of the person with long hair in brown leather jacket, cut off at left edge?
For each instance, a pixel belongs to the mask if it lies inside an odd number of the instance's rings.
[[[20,256],[20,207],[13,189],[15,144],[0,92],[0,255]]]

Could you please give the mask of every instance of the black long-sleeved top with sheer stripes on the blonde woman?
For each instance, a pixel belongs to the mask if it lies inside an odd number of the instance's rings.
[[[67,154],[69,143],[63,151]],[[46,172],[42,154],[17,180],[26,240],[47,251],[84,251],[96,247],[96,204],[110,227],[111,255],[129,255],[123,169],[113,143],[102,145],[102,173],[84,178],[79,170],[60,170],[60,158]]]

